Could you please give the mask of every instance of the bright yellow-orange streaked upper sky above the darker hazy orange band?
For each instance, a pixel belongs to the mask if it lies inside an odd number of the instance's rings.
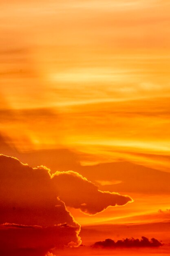
[[[19,150],[169,155],[169,1],[15,0],[1,9],[0,130]]]

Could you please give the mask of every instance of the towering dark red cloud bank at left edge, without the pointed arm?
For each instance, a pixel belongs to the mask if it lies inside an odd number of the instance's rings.
[[[44,256],[80,244],[80,225],[57,199],[47,168],[0,155],[0,180],[0,255]]]

